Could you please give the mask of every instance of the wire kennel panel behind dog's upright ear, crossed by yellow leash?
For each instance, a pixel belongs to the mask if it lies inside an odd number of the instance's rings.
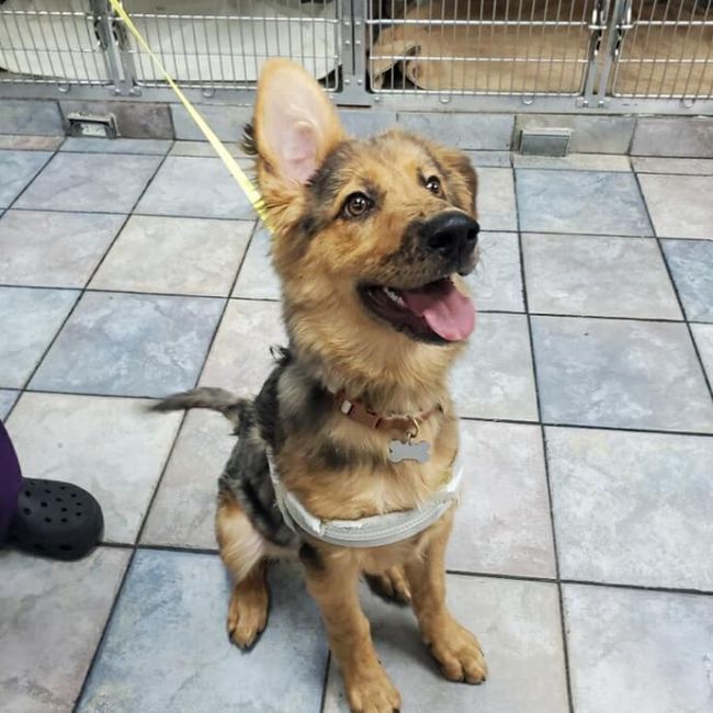
[[[299,61],[330,89],[340,60],[339,2],[308,0],[126,0],[138,30],[169,73],[186,87],[249,88],[270,57]],[[133,37],[135,80],[161,86]]]

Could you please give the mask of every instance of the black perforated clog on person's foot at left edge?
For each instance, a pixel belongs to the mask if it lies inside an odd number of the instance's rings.
[[[102,509],[83,488],[24,478],[7,544],[55,559],[79,559],[97,546],[103,530]]]

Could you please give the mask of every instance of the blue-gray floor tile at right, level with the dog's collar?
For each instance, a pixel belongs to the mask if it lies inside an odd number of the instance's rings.
[[[533,317],[542,418],[713,432],[713,401],[682,324]]]

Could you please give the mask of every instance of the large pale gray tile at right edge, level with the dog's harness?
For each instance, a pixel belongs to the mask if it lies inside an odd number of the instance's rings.
[[[546,438],[563,578],[713,590],[713,439],[566,428]]]

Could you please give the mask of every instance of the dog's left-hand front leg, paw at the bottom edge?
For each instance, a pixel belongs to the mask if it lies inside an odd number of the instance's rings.
[[[329,646],[344,679],[347,700],[354,713],[393,713],[401,699],[382,668],[361,610],[355,557],[339,552],[302,556],[307,589],[321,610]],[[304,555],[304,551],[301,552]]]

